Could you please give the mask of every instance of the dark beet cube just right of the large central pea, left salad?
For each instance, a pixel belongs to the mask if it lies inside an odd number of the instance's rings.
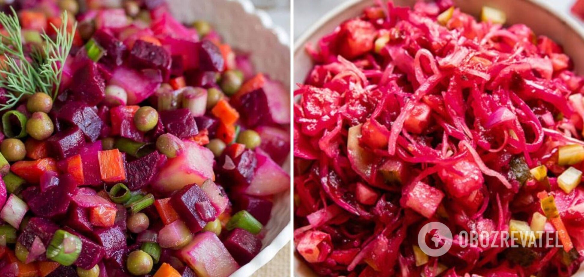
[[[161,111],[160,117],[166,132],[179,138],[190,138],[199,134],[197,122],[187,108],[178,110]]]

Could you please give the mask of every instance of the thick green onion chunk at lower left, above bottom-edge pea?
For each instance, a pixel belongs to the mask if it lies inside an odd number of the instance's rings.
[[[77,260],[81,248],[82,243],[79,237],[65,230],[57,230],[53,240],[48,244],[47,258],[68,267]]]

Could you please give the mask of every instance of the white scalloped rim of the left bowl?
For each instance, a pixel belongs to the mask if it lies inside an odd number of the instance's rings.
[[[241,7],[245,10],[246,13],[258,17],[260,19],[260,22],[262,22],[262,26],[267,30],[271,30],[274,36],[277,37],[279,43],[290,49],[290,36],[288,36],[288,33],[284,29],[282,29],[282,27],[274,24],[272,17],[270,17],[270,15],[268,15],[264,10],[256,9],[250,0],[227,0],[227,1],[239,3],[239,5],[241,5]],[[288,90],[289,89],[290,88],[288,88]],[[288,172],[290,173],[291,171]],[[285,194],[286,192],[283,193]],[[268,244],[265,248],[263,248],[260,251],[260,253],[256,255],[256,257],[253,257],[253,259],[249,261],[247,264],[237,269],[237,271],[235,271],[231,275],[231,277],[251,276],[254,272],[258,271],[268,262],[272,261],[276,254],[279,253],[279,251],[283,249],[284,246],[286,246],[286,244],[291,240],[291,234],[292,220],[290,218],[288,219],[288,224],[284,227],[284,229],[280,231],[279,234],[277,234],[276,237],[274,237],[272,243]]]

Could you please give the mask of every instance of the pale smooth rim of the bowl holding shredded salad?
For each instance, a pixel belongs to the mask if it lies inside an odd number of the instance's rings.
[[[292,59],[292,62],[294,65],[293,69],[296,68],[296,59],[298,58],[299,55],[303,54],[304,45],[306,45],[308,43],[308,41],[311,40],[311,38],[315,35],[315,33],[317,33],[322,28],[322,26],[324,26],[326,23],[328,23],[334,17],[338,16],[340,13],[343,13],[349,9],[353,9],[354,6],[361,5],[363,2],[367,2],[367,1],[371,1],[371,0],[347,0],[345,2],[340,3],[339,5],[335,6],[335,8],[329,10],[323,16],[319,17],[319,19],[316,20],[314,23],[312,23],[311,26],[307,30],[305,30],[298,38],[294,39],[294,49],[293,49],[294,52],[293,52],[293,59]],[[381,1],[387,2],[387,1],[392,1],[392,0],[381,0]],[[486,1],[488,1],[488,0],[485,0],[485,2]],[[559,9],[553,8],[553,2],[550,2],[550,1],[547,2],[546,0],[517,0],[517,1],[526,2],[530,5],[533,5],[534,8],[541,9],[544,12],[549,13],[551,16],[556,17],[565,26],[574,30],[579,35],[580,40],[584,41],[584,23],[579,22],[579,19],[576,19],[576,17],[571,14],[571,10],[568,10],[567,13],[562,13]],[[584,20],[584,19],[582,19],[582,20]],[[296,80],[296,78],[298,76],[294,76],[294,74],[296,73],[295,70],[293,70],[292,72],[293,72],[292,73],[292,75],[293,75],[292,81],[294,82],[294,80]],[[304,77],[305,76],[302,76],[301,78],[304,78]],[[298,257],[296,247],[293,246],[292,252],[293,252],[293,255],[292,255],[293,276],[300,277],[299,275],[297,275],[297,269],[302,268],[303,270],[305,270],[308,268],[308,266],[300,257]],[[576,274],[582,274],[582,272],[584,272],[584,262],[580,265],[580,269],[578,272],[576,272]],[[584,274],[582,276],[584,276]]]

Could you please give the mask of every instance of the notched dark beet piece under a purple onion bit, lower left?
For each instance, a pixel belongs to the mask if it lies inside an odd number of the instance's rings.
[[[30,211],[35,215],[53,217],[64,215],[69,207],[77,181],[70,174],[59,176],[59,184],[41,192],[39,187],[29,187],[22,192]]]

